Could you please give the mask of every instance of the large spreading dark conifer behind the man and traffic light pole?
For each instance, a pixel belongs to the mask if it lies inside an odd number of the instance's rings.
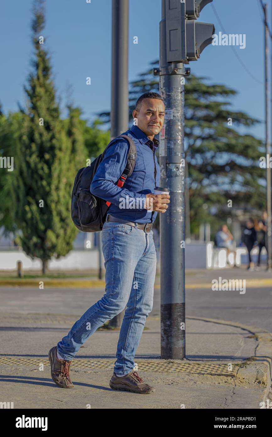
[[[151,66],[158,67],[158,61]],[[136,101],[147,91],[159,92],[153,68],[130,83],[131,124]],[[265,206],[265,173],[259,167],[263,144],[253,135],[238,131],[255,125],[258,120],[230,109],[230,102],[225,99],[235,94],[236,91],[224,85],[207,85],[203,77],[186,77],[185,158],[192,232],[198,232],[204,221],[216,226],[225,220],[228,199],[233,207],[241,209],[262,210]],[[98,115],[104,123],[110,121],[109,112]]]

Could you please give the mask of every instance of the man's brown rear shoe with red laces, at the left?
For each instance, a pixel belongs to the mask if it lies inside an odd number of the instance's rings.
[[[72,360],[59,360],[56,346],[49,350],[48,358],[51,365],[51,376],[55,384],[62,388],[73,388],[74,385],[69,375]]]

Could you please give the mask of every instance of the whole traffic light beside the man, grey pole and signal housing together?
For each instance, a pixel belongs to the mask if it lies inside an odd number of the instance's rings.
[[[160,94],[165,129],[160,132],[161,186],[170,204],[160,216],[161,358],[185,359],[185,154],[184,83],[190,69],[212,42],[213,24],[197,23],[212,0],[162,0],[160,22]]]

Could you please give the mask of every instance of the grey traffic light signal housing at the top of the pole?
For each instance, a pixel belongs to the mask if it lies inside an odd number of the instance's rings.
[[[164,0],[167,62],[196,61],[211,44],[214,25],[196,21],[213,0]]]

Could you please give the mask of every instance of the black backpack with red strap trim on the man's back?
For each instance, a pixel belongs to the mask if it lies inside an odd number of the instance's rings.
[[[72,190],[71,215],[74,225],[80,231],[97,232],[101,231],[103,228],[103,223],[105,222],[107,209],[110,206],[110,202],[93,195],[90,192],[90,185],[96,173],[97,167],[104,158],[105,151],[119,138],[125,138],[129,142],[130,147],[126,168],[117,181],[118,187],[122,187],[124,185],[125,180],[134,170],[137,158],[134,141],[128,135],[119,135],[109,142],[104,152],[97,156],[97,158],[89,166],[83,167],[77,172]]]

